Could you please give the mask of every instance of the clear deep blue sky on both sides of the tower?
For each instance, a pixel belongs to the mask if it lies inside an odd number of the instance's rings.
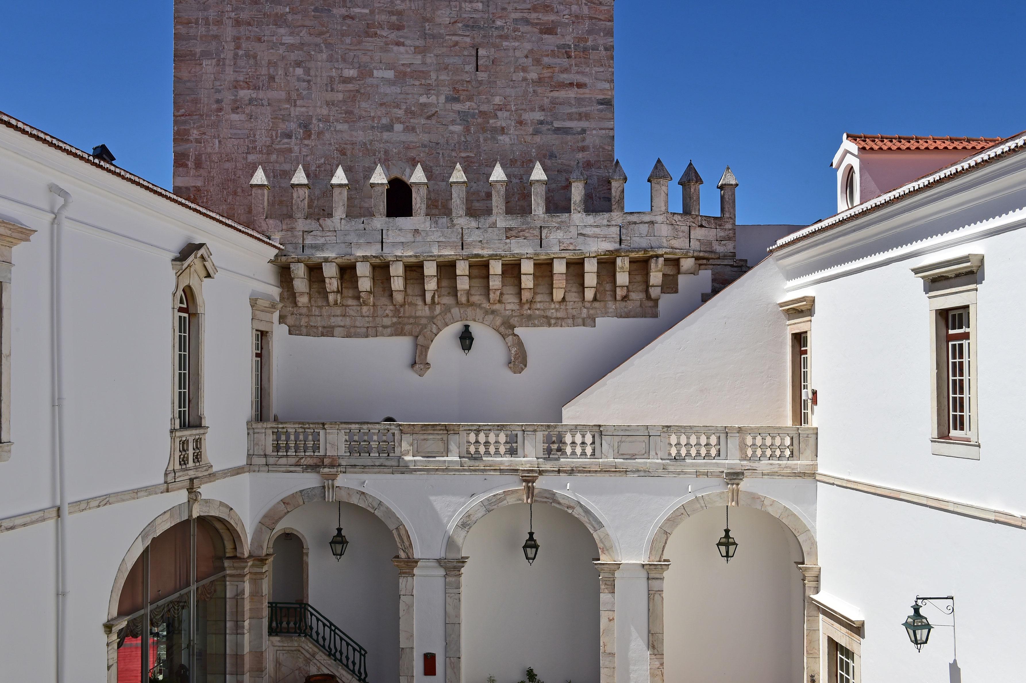
[[[718,212],[716,180],[731,164],[739,222],[807,224],[834,212],[827,166],[845,130],[1026,128],[1026,3],[616,7],[628,209],[647,206],[657,157],[675,177],[694,159],[704,212]],[[118,165],[170,187],[170,0],[10,2],[3,13],[0,110],[85,150],[106,143]]]

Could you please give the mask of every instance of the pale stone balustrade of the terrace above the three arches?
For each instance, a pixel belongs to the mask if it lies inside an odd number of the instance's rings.
[[[320,468],[549,467],[815,473],[816,428],[660,425],[250,423],[249,465]],[[527,465],[527,461],[530,465]]]

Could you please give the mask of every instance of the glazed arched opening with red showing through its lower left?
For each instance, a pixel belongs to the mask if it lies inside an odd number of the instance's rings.
[[[225,544],[206,520],[180,522],[132,565],[118,600],[118,683],[226,680]]]

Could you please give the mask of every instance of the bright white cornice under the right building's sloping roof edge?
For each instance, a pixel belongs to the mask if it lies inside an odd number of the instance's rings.
[[[794,291],[803,287],[820,284],[821,282],[827,282],[828,280],[836,280],[840,277],[855,275],[856,273],[862,273],[863,271],[880,268],[882,266],[889,266],[900,260],[915,258],[916,256],[958,246],[960,244],[965,244],[966,242],[975,242],[986,237],[999,235],[1001,233],[1007,233],[1011,230],[1018,230],[1023,227],[1026,227],[1026,207],[1018,208],[1014,211],[1009,211],[1008,213],[1002,213],[1001,215],[973,223],[968,226],[962,226],[961,228],[956,228],[940,235],[934,235],[922,240],[917,240],[911,244],[895,247],[894,249],[889,249],[887,251],[881,251],[879,253],[863,256],[862,258],[850,260],[844,264],[832,266],[831,268],[810,273],[808,275],[803,275],[800,278],[795,278],[794,280],[788,280],[784,289],[786,291]]]

